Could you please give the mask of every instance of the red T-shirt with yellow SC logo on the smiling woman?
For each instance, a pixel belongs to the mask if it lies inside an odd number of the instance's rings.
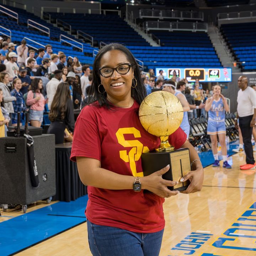
[[[153,151],[160,139],[142,127],[139,105],[130,108],[88,105],[76,121],[71,160],[76,156],[101,161],[101,167],[118,174],[143,176],[141,154]],[[178,128],[169,136],[176,149],[186,140]],[[157,170],[156,170],[157,171]],[[101,177],[98,177],[99,179]],[[153,193],[130,190],[106,190],[88,186],[86,217],[97,225],[113,226],[138,233],[152,233],[164,228],[164,198]]]

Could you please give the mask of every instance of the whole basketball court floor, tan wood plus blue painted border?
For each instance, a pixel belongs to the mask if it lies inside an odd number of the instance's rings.
[[[229,155],[235,146],[230,145]],[[202,191],[164,203],[160,256],[255,256],[256,171],[239,170],[244,154],[229,157],[233,169],[213,168],[211,152],[200,157],[205,166]],[[21,209],[1,212],[0,255],[91,256],[86,202],[84,196],[71,203],[38,202],[26,214]]]

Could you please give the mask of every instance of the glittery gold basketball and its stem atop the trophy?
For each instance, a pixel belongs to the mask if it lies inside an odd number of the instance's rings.
[[[144,129],[160,137],[160,149],[170,150],[168,136],[180,127],[183,108],[176,96],[166,91],[152,92],[145,97],[139,108],[139,119]],[[162,149],[161,149],[162,148]]]

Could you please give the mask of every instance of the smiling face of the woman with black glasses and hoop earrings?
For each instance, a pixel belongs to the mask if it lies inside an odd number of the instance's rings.
[[[123,63],[130,63],[126,55],[119,50],[111,50],[103,54],[100,60],[100,68],[116,68]],[[110,77],[100,76],[101,84],[107,92],[108,101],[113,103],[131,98],[133,75],[134,72],[130,68],[128,73],[124,75],[114,70]]]

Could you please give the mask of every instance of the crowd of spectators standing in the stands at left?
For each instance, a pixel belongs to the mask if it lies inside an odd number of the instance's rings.
[[[24,39],[17,46],[0,37],[0,137],[6,136],[7,126],[17,125],[18,112],[22,125],[26,111],[31,126],[41,127],[43,114],[48,111],[52,123],[60,121],[73,132],[71,116],[74,110],[86,105],[84,99],[91,81],[90,66],[82,65],[76,56],[55,54],[50,44],[34,50],[28,48]],[[65,92],[67,86],[69,94]],[[64,100],[65,97],[70,100]],[[56,132],[55,124],[51,130]]]

